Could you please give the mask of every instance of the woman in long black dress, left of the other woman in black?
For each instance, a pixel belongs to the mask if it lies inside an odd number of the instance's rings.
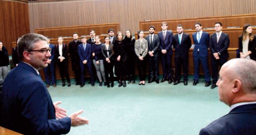
[[[126,87],[126,74],[127,74],[127,53],[125,51],[123,34],[121,31],[117,32],[117,40],[114,42],[115,52],[115,74],[119,77],[120,83],[118,87]],[[124,82],[122,82],[122,80]]]

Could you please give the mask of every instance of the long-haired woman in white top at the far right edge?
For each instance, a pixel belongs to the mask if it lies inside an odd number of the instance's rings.
[[[256,36],[252,34],[252,25],[245,24],[243,33],[238,37],[240,58],[256,60]]]

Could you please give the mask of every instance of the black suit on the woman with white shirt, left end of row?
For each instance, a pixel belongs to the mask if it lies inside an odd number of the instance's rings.
[[[68,74],[68,46],[66,44],[62,45],[62,56],[65,58],[62,62],[60,62],[60,59],[58,57],[60,56],[59,53],[59,45],[56,45],[56,51],[55,51],[55,56],[57,59],[57,65],[60,70],[60,77],[61,80],[64,82],[65,81],[65,76],[68,82],[70,82],[69,74]]]

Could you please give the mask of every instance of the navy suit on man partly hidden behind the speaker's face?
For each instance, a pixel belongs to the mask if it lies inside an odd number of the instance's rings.
[[[44,71],[44,74],[45,74],[46,84],[50,84],[49,70],[50,70],[50,74],[51,74],[51,82],[52,82],[52,84],[56,84],[55,61],[54,61],[55,45],[50,44],[49,47],[52,49],[51,56],[49,58],[49,59],[51,59],[51,63],[48,64],[48,66],[46,68],[44,68],[43,71]]]

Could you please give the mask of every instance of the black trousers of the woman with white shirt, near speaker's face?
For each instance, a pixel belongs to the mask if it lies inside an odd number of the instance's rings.
[[[68,61],[64,59],[62,62],[58,59],[57,65],[60,70],[60,77],[62,81],[65,81],[65,76],[68,82],[70,82],[69,74],[68,74]]]

